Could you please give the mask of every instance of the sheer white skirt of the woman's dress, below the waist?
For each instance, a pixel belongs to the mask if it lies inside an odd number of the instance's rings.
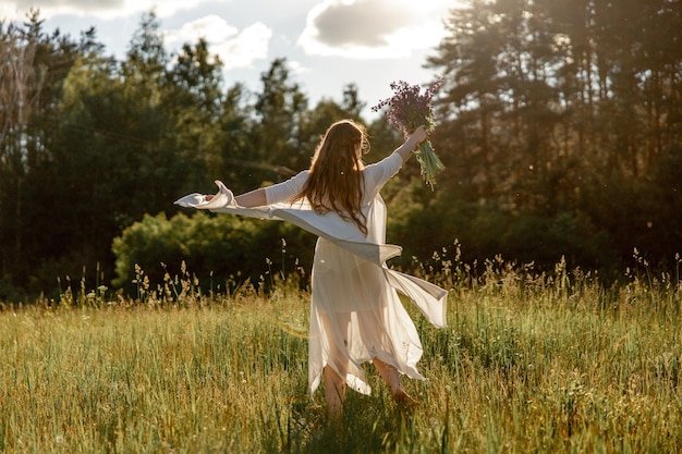
[[[313,265],[308,383],[315,392],[325,366],[363,394],[372,389],[362,364],[372,358],[423,379],[417,330],[380,266],[319,238]]]

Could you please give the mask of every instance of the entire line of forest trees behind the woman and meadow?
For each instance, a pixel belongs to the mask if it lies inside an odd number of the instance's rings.
[[[680,2],[472,0],[444,20],[425,64],[444,77],[433,143],[447,169],[435,192],[415,165],[387,186],[388,240],[405,248],[394,266],[443,266],[458,249],[472,263],[502,255],[543,269],[564,257],[613,277],[645,259],[679,267]],[[214,180],[242,192],[306,168],[331,122],[364,121],[354,84],[341,102],[310,106],[275,59],[258,91],[229,85],[206,41],[168,53],[154,13],[121,60],[95,29],[47,33],[35,11],[2,24],[0,44],[0,299],[53,292],[68,275],[124,285],[136,263],[184,256],[212,273],[240,247],[215,229],[246,232],[254,254],[264,242],[300,251],[305,268],[305,235],[171,203]],[[380,159],[400,136],[368,123]],[[204,244],[169,225],[197,229]],[[220,279],[270,266],[226,261]]]

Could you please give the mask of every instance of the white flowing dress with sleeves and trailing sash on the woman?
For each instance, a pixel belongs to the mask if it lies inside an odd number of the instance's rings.
[[[345,369],[348,385],[369,394],[372,389],[362,364],[375,357],[401,373],[424,379],[416,369],[422,343],[397,290],[407,295],[434,324],[446,326],[447,291],[386,266],[386,260],[399,255],[401,248],[386,244],[386,205],[379,191],[402,162],[402,157],[393,152],[363,170],[362,210],[367,219],[367,235],[336,212],[318,214],[305,201],[290,204],[301,192],[308,171],[267,187],[267,207],[238,207],[220,182],[219,193],[208,203],[199,194],[176,201],[186,207],[287,220],[319,236],[312,271],[310,394],[319,386],[326,366],[337,372]]]

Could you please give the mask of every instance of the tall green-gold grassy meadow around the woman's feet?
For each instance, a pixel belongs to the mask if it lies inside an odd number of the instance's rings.
[[[191,279],[138,298],[68,289],[1,306],[3,453],[677,453],[677,277],[550,274],[442,261],[449,328],[409,302],[427,381],[398,408],[349,391],[342,424],[307,395],[308,295],[296,282],[202,294]],[[139,271],[142,273],[142,271]]]

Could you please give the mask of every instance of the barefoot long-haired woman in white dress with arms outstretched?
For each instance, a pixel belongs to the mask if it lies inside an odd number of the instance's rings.
[[[444,326],[447,292],[385,265],[400,248],[386,249],[390,245],[385,244],[386,206],[379,191],[426,137],[421,126],[392,155],[364,165],[362,156],[369,150],[365,128],[342,120],[327,130],[310,169],[287,182],[233,199],[221,188],[220,203],[200,195],[179,200],[195,208],[289,220],[320,236],[312,271],[308,389],[314,393],[324,380],[331,417],[342,412],[346,384],[370,393],[362,367],[367,361],[395,401],[415,403],[399,373],[424,379],[416,370],[422,345],[397,289],[435,324]]]

